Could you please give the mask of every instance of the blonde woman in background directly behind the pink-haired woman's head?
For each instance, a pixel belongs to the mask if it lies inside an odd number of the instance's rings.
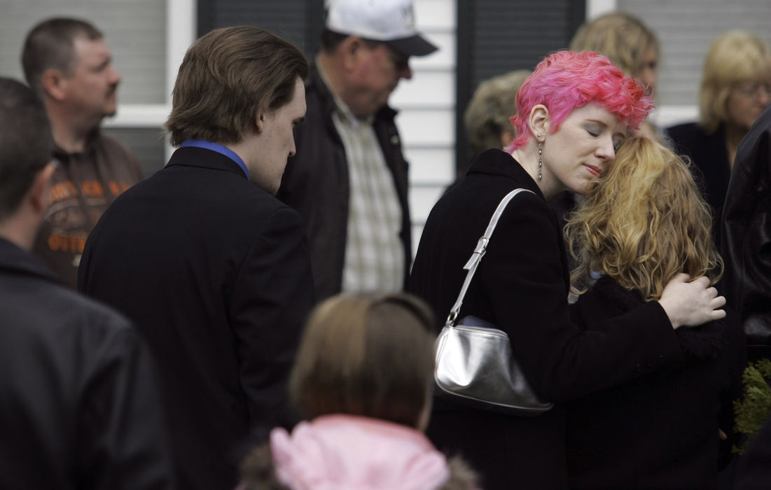
[[[635,15],[610,12],[584,22],[573,36],[570,49],[608,57],[626,75],[638,79],[648,96],[655,95],[661,43],[656,33]],[[647,119],[641,122],[636,134],[662,140]]]

